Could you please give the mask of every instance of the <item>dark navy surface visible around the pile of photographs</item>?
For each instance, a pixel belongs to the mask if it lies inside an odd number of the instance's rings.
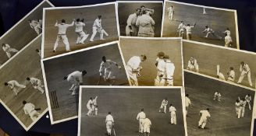
[[[254,0],[177,0],[197,5],[207,5],[218,8],[236,9],[238,18],[238,30],[240,33],[240,49],[256,51],[256,2]],[[0,35],[9,30],[23,16],[39,4],[41,0],[1,0],[0,1]],[[102,2],[113,2],[113,0],[50,0],[55,6],[91,5]],[[46,116],[46,115],[45,115]],[[23,127],[12,117],[12,115],[0,106],[0,127],[10,135],[47,135],[48,133],[76,135],[77,120],[67,121],[61,124],[51,125],[50,120],[42,117],[30,129],[24,131]],[[41,133],[41,134],[39,134]]]

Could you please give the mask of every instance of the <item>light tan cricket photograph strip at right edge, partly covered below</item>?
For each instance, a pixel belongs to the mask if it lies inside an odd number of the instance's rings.
[[[255,89],[256,54],[183,40],[183,67],[203,75]]]

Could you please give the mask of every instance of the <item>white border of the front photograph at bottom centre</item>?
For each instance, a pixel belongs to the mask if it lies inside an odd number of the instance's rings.
[[[78,107],[78,131],[77,136],[80,136],[81,131],[81,104],[82,104],[82,89],[84,88],[96,88],[96,89],[180,89],[180,96],[181,96],[181,104],[183,110],[183,124],[184,124],[184,132],[185,136],[187,136],[187,117],[186,117],[186,108],[185,108],[185,93],[183,91],[182,86],[106,86],[106,85],[80,85],[79,91],[79,107]],[[170,90],[172,91],[172,90]]]

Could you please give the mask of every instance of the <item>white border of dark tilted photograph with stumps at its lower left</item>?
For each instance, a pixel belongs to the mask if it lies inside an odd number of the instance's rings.
[[[50,57],[50,58],[41,59],[41,68],[42,68],[42,73],[43,73],[43,77],[44,77],[45,94],[46,94],[46,98],[47,98],[48,110],[49,110],[51,124],[59,124],[61,122],[65,122],[67,120],[73,120],[73,119],[76,119],[78,116],[68,117],[68,118],[65,118],[65,119],[62,119],[62,120],[53,120],[51,100],[50,100],[50,97],[49,97],[48,85],[47,85],[46,75],[45,75],[45,71],[44,71],[44,61],[48,61],[48,60],[51,60],[51,59],[54,59],[54,58],[61,58],[63,56],[67,56],[67,55],[71,55],[71,54],[76,54],[76,53],[83,52],[83,51],[89,51],[89,50],[95,49],[95,48],[107,47],[107,46],[111,46],[113,44],[117,44],[117,46],[118,46],[118,43],[119,43],[119,41],[116,40],[116,41],[112,41],[112,42],[105,43],[105,44],[99,44],[99,45],[93,46],[93,47],[87,47],[87,48],[80,49],[80,50],[77,50],[77,51],[71,51],[71,52],[68,52],[68,53],[59,54],[59,55],[56,55],[56,56],[53,56],[53,57]],[[119,46],[118,46],[118,49],[119,49]],[[121,60],[123,61],[120,49],[119,49],[119,54],[121,55]],[[124,68],[125,68],[125,65],[124,65]],[[127,74],[126,74],[126,78],[129,81],[129,78],[128,78]]]

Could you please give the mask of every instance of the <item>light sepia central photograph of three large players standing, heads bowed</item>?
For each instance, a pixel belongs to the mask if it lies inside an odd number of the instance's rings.
[[[130,85],[183,86],[180,38],[120,37]]]

